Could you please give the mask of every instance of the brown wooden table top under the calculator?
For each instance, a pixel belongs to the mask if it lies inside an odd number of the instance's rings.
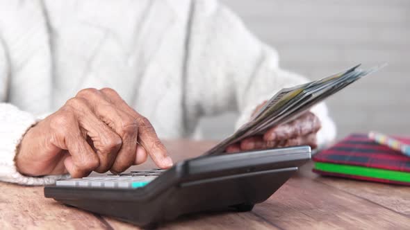
[[[168,141],[172,157],[195,157],[213,142]],[[151,168],[151,162],[138,166]],[[307,163],[246,213],[188,215],[163,229],[410,229],[410,188],[318,177]],[[133,168],[135,169],[135,168]],[[46,199],[43,188],[0,183],[0,229],[137,229]]]

